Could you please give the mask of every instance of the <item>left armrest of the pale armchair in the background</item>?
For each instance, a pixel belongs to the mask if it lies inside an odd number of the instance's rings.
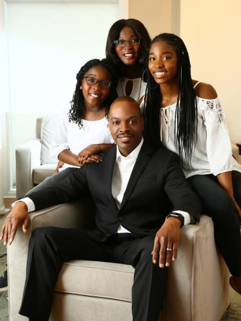
[[[28,139],[16,148],[16,198],[33,188],[33,168],[40,166],[41,143],[39,138]]]

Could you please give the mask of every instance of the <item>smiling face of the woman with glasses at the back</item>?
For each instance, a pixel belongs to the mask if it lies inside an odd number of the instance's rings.
[[[138,38],[136,32],[132,28],[125,26],[121,29],[119,37],[116,40],[130,40],[134,38]],[[115,47],[115,52],[124,65],[138,64],[141,56],[141,43],[131,46],[127,42],[125,47]]]

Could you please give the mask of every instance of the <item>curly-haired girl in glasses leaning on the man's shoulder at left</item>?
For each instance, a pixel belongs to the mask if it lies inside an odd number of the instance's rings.
[[[53,135],[51,156],[59,160],[56,175],[34,190],[61,181],[86,162],[101,161],[96,154],[114,144],[107,120],[110,105],[118,97],[113,65],[106,59],[92,59],[80,68],[76,79],[71,105],[60,116]]]

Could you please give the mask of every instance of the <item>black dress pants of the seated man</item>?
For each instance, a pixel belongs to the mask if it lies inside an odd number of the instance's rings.
[[[154,238],[155,235],[151,235],[138,239],[123,233],[114,234],[100,243],[81,230],[57,227],[35,230],[29,243],[19,313],[30,319],[49,320],[53,291],[63,262],[83,259],[132,265],[135,268],[133,320],[157,321],[166,291],[167,269],[152,263]]]

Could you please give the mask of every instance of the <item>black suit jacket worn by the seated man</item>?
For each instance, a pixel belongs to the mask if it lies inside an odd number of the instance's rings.
[[[199,221],[201,203],[175,153],[144,141],[119,209],[112,196],[116,147],[101,156],[102,162],[88,163],[62,182],[28,194],[36,210],[74,202],[90,193],[97,207],[96,230],[86,233],[98,241],[107,239],[120,224],[139,237],[156,234],[172,210],[188,212]]]

